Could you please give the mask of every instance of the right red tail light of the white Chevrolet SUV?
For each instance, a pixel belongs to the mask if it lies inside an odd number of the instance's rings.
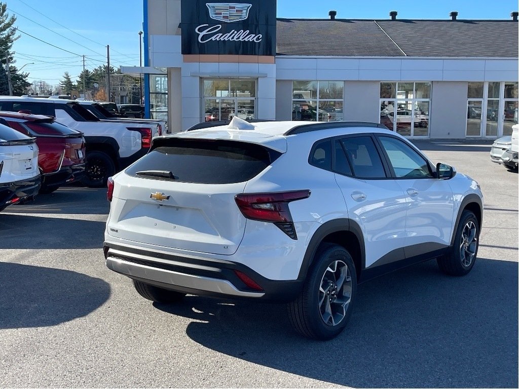
[[[292,239],[297,239],[289,203],[310,197],[310,191],[251,193],[236,195],[236,204],[248,219],[274,223]]]

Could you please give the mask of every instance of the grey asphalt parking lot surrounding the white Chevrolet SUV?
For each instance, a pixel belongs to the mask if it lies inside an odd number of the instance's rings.
[[[349,326],[297,336],[281,304],[139,297],[102,252],[106,191],[59,189],[0,213],[2,387],[517,387],[518,175],[489,144],[417,142],[485,195],[478,259],[361,284]]]

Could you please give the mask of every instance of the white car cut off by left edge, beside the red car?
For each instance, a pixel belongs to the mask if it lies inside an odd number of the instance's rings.
[[[41,184],[36,138],[0,119],[0,211],[35,198]]]

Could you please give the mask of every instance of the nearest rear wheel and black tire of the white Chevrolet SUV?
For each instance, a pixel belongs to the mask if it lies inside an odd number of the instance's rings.
[[[350,253],[336,244],[321,245],[301,294],[288,304],[290,322],[304,337],[332,339],[348,324],[356,295],[357,274]]]

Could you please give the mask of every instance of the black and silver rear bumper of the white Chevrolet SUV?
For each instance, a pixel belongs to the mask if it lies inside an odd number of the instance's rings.
[[[297,297],[303,283],[269,280],[241,263],[154,253],[133,247],[104,244],[106,266],[131,279],[161,288],[201,296],[253,298],[286,302]],[[248,287],[241,272],[262,290]]]

